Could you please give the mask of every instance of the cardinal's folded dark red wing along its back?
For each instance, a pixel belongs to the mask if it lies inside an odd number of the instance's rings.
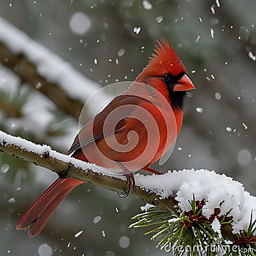
[[[122,130],[127,123],[128,116],[132,116],[136,106],[143,101],[145,99],[135,95],[118,95],[95,118],[84,125],[74,139],[68,154],[79,150],[92,141],[97,141],[104,136]],[[127,105],[129,105],[129,108],[127,108]],[[116,120],[119,120],[119,122],[116,123]]]

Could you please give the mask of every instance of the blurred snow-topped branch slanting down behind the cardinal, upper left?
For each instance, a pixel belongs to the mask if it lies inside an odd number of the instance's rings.
[[[101,88],[1,17],[0,63],[76,119],[84,102]],[[101,96],[104,98],[104,93]]]

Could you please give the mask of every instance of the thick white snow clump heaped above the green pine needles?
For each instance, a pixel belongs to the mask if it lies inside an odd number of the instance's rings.
[[[256,198],[244,191],[240,182],[209,170],[182,170],[164,173],[164,175],[135,175],[136,185],[147,191],[153,191],[160,198],[177,195],[175,199],[183,211],[191,210],[189,200],[205,200],[202,214],[209,218],[215,208],[220,208],[220,215],[233,216],[233,232],[248,228],[250,214],[256,218]]]

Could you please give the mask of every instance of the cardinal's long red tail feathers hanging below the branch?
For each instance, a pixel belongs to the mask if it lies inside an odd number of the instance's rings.
[[[81,183],[83,181],[72,178],[56,179],[20,218],[17,230],[28,228],[29,237],[38,235],[61,201]]]

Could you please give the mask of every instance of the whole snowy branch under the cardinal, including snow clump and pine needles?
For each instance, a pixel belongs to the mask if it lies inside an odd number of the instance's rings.
[[[48,168],[63,178],[72,177],[118,193],[124,192],[126,183],[122,175],[109,174],[109,169],[2,131],[0,152]],[[202,238],[204,243],[213,243],[212,239],[222,236],[223,243],[226,239],[239,246],[249,246],[255,252],[256,198],[244,191],[241,183],[224,174],[193,169],[163,175],[136,174],[135,180],[136,189],[132,196],[147,205],[141,207],[145,212],[134,217],[137,221],[131,227],[158,225],[147,233],[156,232],[152,239],[168,233],[159,243],[161,248],[173,240],[188,245],[191,236]],[[187,238],[182,240],[180,234]],[[191,244],[196,239],[190,239]]]

